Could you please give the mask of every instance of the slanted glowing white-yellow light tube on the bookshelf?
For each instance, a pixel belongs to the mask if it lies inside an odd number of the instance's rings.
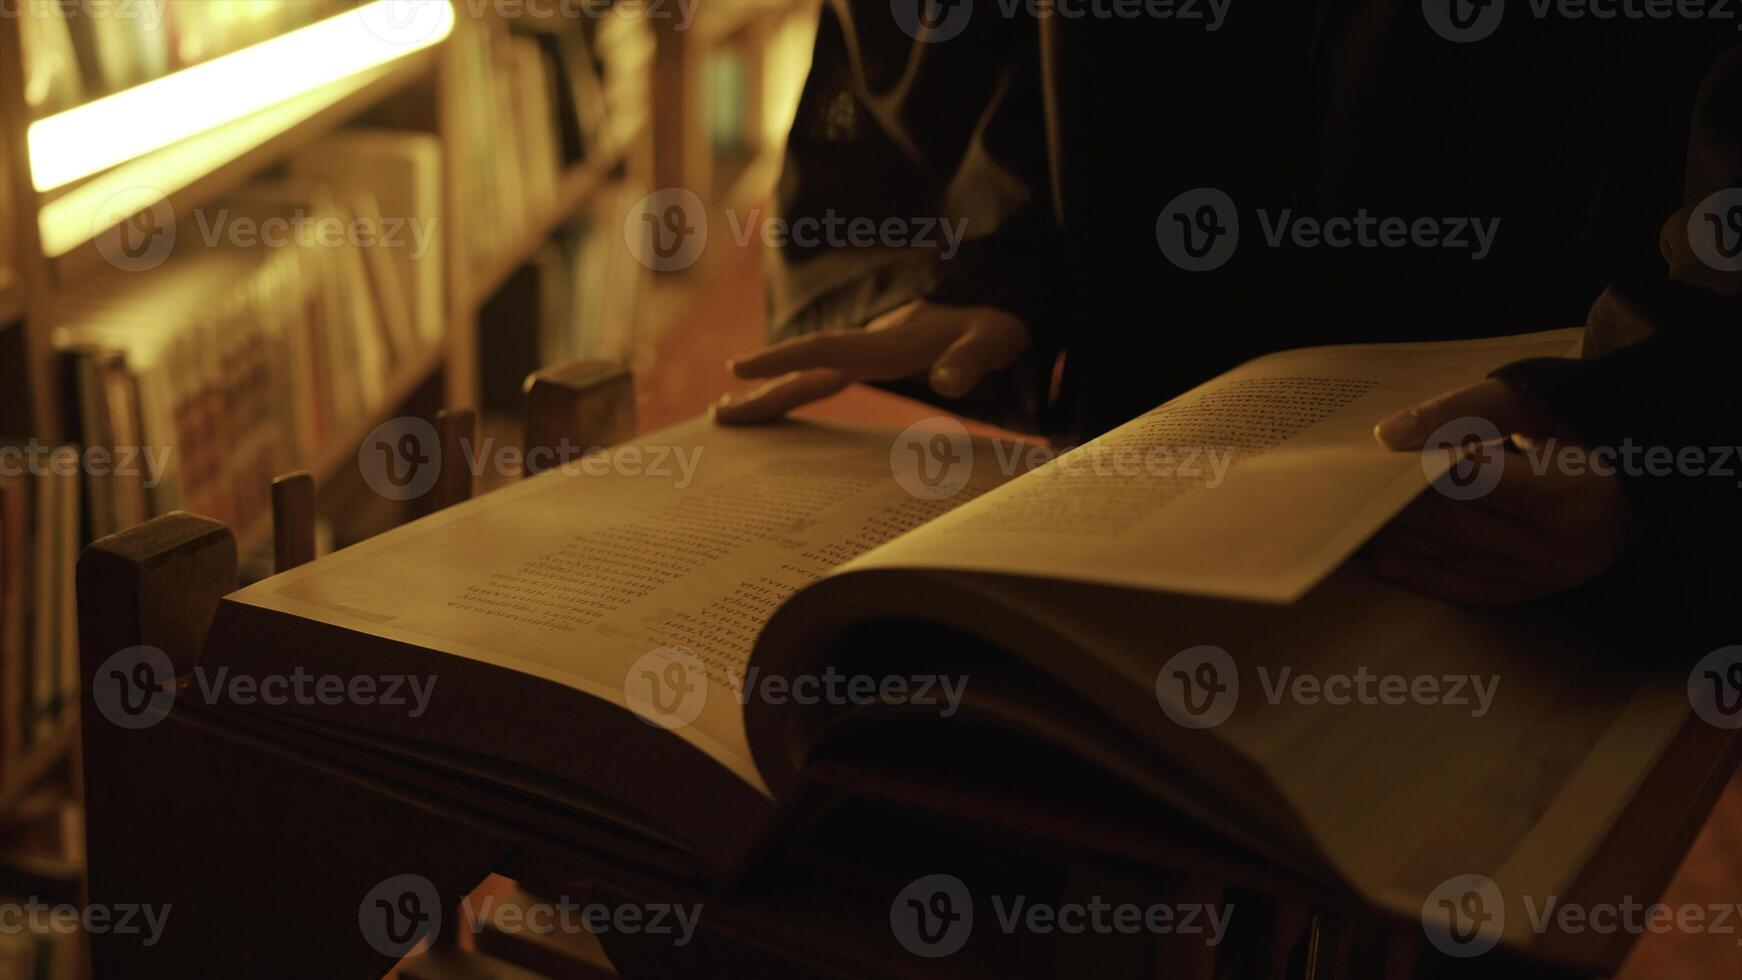
[[[51,191],[378,68],[453,31],[449,0],[373,0],[268,42],[106,96],[30,127],[30,172]]]

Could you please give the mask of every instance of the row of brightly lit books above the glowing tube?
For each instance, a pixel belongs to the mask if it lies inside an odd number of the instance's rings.
[[[42,118],[312,24],[355,0],[19,0],[24,96]]]

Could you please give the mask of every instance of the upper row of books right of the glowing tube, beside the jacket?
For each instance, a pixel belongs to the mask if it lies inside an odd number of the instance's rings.
[[[479,21],[455,40],[469,258],[491,266],[557,209],[563,176],[645,118],[653,33],[608,16],[556,33]]]

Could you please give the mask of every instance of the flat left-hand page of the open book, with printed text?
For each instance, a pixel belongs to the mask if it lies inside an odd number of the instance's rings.
[[[888,433],[699,420],[230,599],[521,670],[622,707],[641,672],[676,665],[685,686],[706,688],[683,701],[693,719],[664,728],[766,792],[739,700],[763,623],[794,590],[995,482],[986,472],[948,500],[922,500],[892,475]]]

